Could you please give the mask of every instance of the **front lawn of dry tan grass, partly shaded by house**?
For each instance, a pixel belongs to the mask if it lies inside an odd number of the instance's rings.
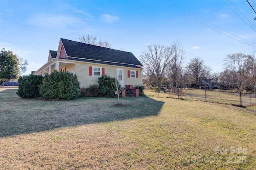
[[[255,111],[166,97],[116,102],[0,94],[0,169],[256,167]]]

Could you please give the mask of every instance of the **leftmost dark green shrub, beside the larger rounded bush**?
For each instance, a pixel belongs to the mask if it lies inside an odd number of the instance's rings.
[[[16,94],[22,98],[40,97],[39,85],[42,83],[41,75],[30,75],[20,79]]]

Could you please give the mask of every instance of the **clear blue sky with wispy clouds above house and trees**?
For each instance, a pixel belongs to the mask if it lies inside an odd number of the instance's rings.
[[[256,50],[255,17],[246,0],[0,0],[0,49],[27,59],[29,75],[60,38],[91,34],[138,59],[147,45],[176,40],[185,64],[201,57],[220,72],[226,55]]]

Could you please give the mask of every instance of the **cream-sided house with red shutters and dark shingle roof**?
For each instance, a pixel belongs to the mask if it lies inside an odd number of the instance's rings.
[[[48,62],[34,75],[54,70],[74,73],[80,88],[98,84],[98,77],[117,77],[120,85],[142,85],[142,63],[130,52],[60,38],[58,51],[49,51]]]

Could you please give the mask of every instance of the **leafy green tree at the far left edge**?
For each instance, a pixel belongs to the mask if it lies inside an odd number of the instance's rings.
[[[10,75],[14,77],[19,73],[18,57],[12,51],[6,51],[4,48],[0,52],[0,78],[10,79]]]

